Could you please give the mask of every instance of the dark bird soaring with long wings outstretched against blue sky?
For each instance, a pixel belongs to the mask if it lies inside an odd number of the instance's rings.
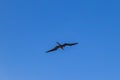
[[[55,46],[53,49],[48,50],[47,53],[48,53],[48,52],[52,52],[52,51],[56,51],[56,50],[59,49],[59,48],[61,48],[62,50],[64,50],[64,47],[66,47],[66,46],[73,46],[73,45],[78,44],[78,43],[64,43],[64,44],[60,44],[59,42],[56,42],[56,43],[57,43],[58,45]]]

